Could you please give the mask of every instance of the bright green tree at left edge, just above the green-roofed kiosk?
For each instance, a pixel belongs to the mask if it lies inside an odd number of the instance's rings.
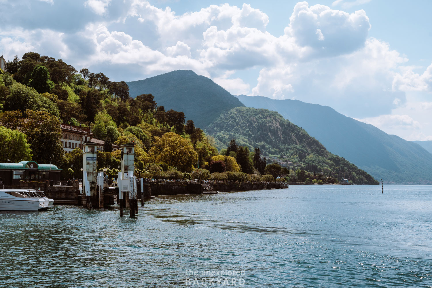
[[[31,160],[31,152],[24,133],[0,126],[0,162],[18,163]]]

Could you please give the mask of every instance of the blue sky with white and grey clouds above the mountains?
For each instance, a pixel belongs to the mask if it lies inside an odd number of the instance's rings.
[[[432,140],[432,1],[0,0],[0,54],[112,80],[194,70],[234,95],[328,105]]]

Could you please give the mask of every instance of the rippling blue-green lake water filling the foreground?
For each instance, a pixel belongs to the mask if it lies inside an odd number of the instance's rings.
[[[0,287],[432,287],[432,186],[162,196],[138,209],[0,212]]]

